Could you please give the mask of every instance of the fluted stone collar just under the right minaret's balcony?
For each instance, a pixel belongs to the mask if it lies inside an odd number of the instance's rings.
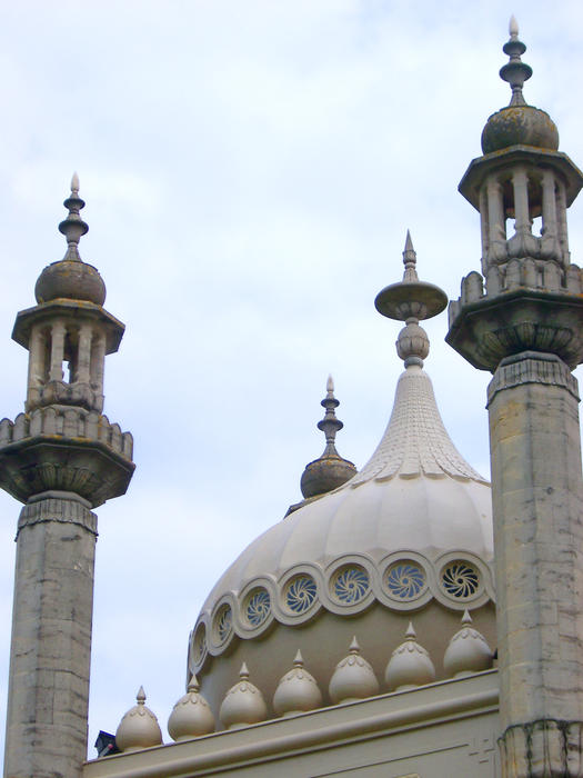
[[[487,387],[487,406],[496,392],[523,383],[564,387],[579,401],[576,378],[554,353],[524,351],[503,359]]]

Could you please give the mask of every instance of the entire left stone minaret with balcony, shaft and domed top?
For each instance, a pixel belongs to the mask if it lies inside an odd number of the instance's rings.
[[[104,310],[105,286],[81,261],[88,227],[73,176],[59,225],[64,259],[36,287],[12,338],[28,349],[24,412],[0,421],[0,486],[24,503],[17,562],[4,776],[77,778],[87,758],[97,516],[123,495],[132,437],[103,410],[105,355],[124,327]]]

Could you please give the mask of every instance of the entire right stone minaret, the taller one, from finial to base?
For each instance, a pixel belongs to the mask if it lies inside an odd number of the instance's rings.
[[[514,19],[500,71],[512,100],[487,120],[460,183],[480,211],[482,273],[450,305],[448,342],[493,372],[487,389],[503,776],[583,775],[583,525],[577,382],[583,285],[566,209],[583,183]],[[540,220],[541,229],[534,229]],[[484,286],[485,280],[485,286]]]

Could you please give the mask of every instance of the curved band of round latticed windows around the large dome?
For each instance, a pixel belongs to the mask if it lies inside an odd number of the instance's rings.
[[[225,592],[212,611],[203,611],[191,636],[190,656],[198,671],[210,652],[222,654],[237,635],[253,638],[275,620],[299,625],[321,608],[352,615],[374,600],[393,610],[413,610],[435,598],[454,610],[494,600],[490,567],[475,555],[453,551],[430,560],[400,551],[380,562],[364,555],[335,559],[326,568],[305,563],[279,580],[261,576],[240,592]]]

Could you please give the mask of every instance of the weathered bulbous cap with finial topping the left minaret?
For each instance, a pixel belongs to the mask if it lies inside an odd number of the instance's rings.
[[[79,215],[86,203],[79,197],[77,173],[73,173],[71,180],[71,196],[63,205],[69,209],[69,215],[59,225],[59,230],[67,238],[67,253],[63,259],[52,262],[41,272],[34,287],[34,297],[37,302],[66,298],[102,306],[105,302],[103,279],[97,268],[83,262],[79,256],[79,240],[89,227]]]

